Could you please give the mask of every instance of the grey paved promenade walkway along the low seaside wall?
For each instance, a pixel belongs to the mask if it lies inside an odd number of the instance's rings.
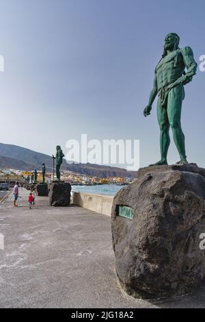
[[[71,206],[51,208],[28,191],[18,208],[0,204],[0,308],[205,308],[205,283],[194,295],[143,301],[126,295],[115,277],[110,218]]]

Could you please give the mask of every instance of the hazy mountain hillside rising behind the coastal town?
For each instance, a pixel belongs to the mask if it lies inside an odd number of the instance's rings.
[[[0,156],[2,158],[2,161],[0,162],[1,168],[8,167],[33,171],[33,169],[41,170],[42,163],[45,163],[47,171],[52,171],[53,169],[53,159],[51,156],[16,145],[0,143]],[[96,177],[128,177],[130,175],[131,177],[137,177],[137,172],[128,172],[126,169],[120,169],[114,166],[103,166],[90,163],[68,164],[66,160],[64,160],[61,169]]]

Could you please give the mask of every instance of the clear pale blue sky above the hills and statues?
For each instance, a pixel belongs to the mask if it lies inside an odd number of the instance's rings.
[[[0,0],[0,142],[52,154],[69,138],[139,139],[140,165],[159,160],[156,102],[145,119],[165,35],[205,55],[205,3]],[[205,72],[186,86],[190,162],[205,166]],[[169,163],[178,160],[173,140]]]

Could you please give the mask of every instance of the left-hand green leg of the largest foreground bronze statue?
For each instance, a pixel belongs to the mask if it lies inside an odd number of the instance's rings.
[[[150,164],[151,166],[158,166],[167,164],[167,152],[169,149],[170,138],[169,138],[169,119],[167,116],[167,110],[162,108],[161,99],[158,99],[157,102],[157,119],[160,127],[160,148],[161,148],[161,160],[154,164]]]

